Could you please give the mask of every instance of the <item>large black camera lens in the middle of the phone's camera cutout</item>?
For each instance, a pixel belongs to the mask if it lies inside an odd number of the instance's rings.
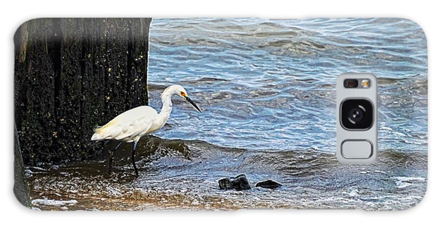
[[[368,99],[346,99],[341,105],[340,122],[348,130],[368,130],[373,123],[373,114]]]

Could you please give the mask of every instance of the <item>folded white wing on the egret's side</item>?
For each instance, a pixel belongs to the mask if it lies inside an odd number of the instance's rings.
[[[124,139],[148,131],[157,112],[149,106],[140,106],[128,110],[109,121],[95,131],[92,140]]]

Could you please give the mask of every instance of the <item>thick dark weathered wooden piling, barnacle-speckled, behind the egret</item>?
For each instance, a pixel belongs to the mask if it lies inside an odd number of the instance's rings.
[[[151,19],[35,19],[17,30],[15,116],[25,163],[87,159],[93,129],[148,104]]]

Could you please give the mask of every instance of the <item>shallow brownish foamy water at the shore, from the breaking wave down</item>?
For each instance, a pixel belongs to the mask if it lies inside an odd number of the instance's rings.
[[[114,145],[110,144],[109,146]],[[50,210],[162,210],[240,208],[403,209],[417,204],[426,187],[422,153],[383,151],[369,166],[340,165],[332,154],[252,151],[203,141],[141,141],[135,177],[127,155],[116,153],[114,172],[105,158],[28,168],[33,204]],[[254,185],[273,179],[276,189],[223,191],[217,180],[244,173]],[[422,191],[424,190],[424,191]]]

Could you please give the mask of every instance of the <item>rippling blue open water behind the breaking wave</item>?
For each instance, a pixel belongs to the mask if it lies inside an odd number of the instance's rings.
[[[403,19],[154,19],[150,105],[172,84],[179,99],[163,138],[254,150],[335,152],[335,81],[379,78],[379,150],[427,151],[427,47]]]

